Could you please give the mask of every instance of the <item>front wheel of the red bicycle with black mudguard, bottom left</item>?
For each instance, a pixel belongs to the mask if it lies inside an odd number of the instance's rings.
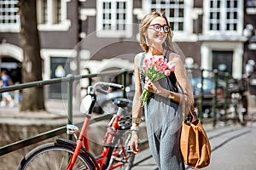
[[[38,146],[31,150],[20,162],[18,170],[66,170],[68,158],[73,154],[73,146],[67,144],[49,143]],[[93,170],[94,164],[90,159],[80,153],[73,170],[88,169]]]

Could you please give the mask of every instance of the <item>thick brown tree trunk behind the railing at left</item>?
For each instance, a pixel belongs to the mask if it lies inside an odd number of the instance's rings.
[[[42,80],[42,59],[37,26],[37,0],[20,0],[20,46],[23,49],[22,82]],[[45,111],[44,88],[22,90],[20,111]]]

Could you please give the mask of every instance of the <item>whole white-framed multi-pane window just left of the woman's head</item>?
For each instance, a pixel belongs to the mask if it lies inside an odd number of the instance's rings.
[[[97,5],[98,37],[131,37],[131,1],[98,0]]]

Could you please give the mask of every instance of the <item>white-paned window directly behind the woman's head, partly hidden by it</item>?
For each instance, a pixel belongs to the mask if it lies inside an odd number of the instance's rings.
[[[152,0],[151,11],[166,14],[174,31],[184,31],[184,1],[183,0]]]

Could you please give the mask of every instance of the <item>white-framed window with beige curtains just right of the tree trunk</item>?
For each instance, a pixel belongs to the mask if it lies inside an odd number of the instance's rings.
[[[67,31],[67,0],[37,0],[38,29],[41,31]]]

